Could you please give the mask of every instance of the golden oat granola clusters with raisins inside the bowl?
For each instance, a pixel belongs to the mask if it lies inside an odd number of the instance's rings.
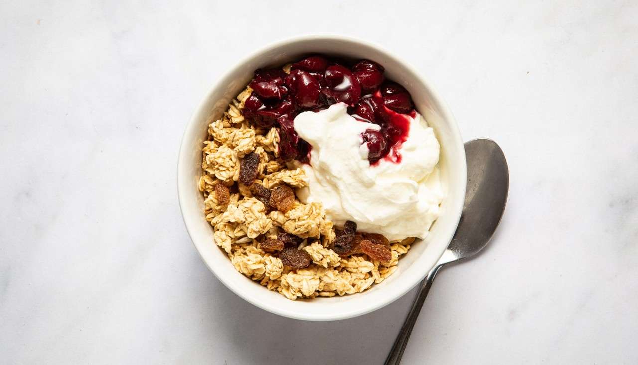
[[[359,234],[353,222],[339,229],[321,204],[302,204],[293,190],[308,179],[280,158],[278,130],[244,118],[251,93],[247,87],[221,119],[209,121],[202,149],[198,186],[214,242],[237,271],[292,300],[353,294],[381,283],[414,239]]]

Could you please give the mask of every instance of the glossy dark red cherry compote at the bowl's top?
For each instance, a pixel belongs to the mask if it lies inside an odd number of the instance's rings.
[[[293,63],[288,74],[276,68],[256,70],[244,116],[260,128],[278,128],[283,160],[308,163],[310,145],[295,132],[295,116],[346,103],[348,114],[362,123],[380,126],[380,130],[368,129],[361,134],[371,165],[381,159],[398,163],[398,150],[408,138],[410,117],[415,117],[416,111],[410,93],[387,80],[384,71],[383,66],[367,59],[346,64],[323,56]]]

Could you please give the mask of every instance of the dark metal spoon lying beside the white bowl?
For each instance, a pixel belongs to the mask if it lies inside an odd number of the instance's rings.
[[[385,364],[399,364],[419,312],[441,267],[475,255],[487,245],[501,221],[510,184],[505,154],[491,139],[478,138],[464,144],[468,184],[459,226],[447,250],[422,281],[417,299],[403,322]]]

